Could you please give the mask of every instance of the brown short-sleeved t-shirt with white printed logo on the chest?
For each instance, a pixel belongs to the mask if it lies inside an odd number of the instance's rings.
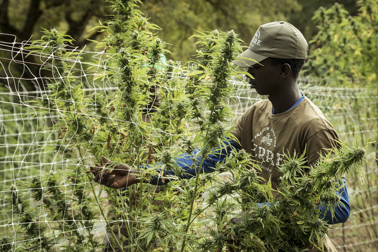
[[[282,175],[277,166],[282,165],[285,154],[302,155],[306,150],[307,165],[318,162],[325,149],[338,146],[339,135],[322,112],[308,98],[294,108],[277,115],[272,114],[269,100],[258,101],[237,120],[232,133],[240,148],[254,156],[261,168],[260,174],[278,187]],[[275,194],[273,194],[276,196]]]

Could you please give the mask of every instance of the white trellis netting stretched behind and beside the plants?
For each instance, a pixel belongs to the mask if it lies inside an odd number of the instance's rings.
[[[49,93],[49,90],[43,88],[47,78],[43,76],[43,70],[39,69],[46,59],[54,56],[41,54],[39,62],[30,63],[25,58],[30,53],[26,49],[29,45],[30,42],[0,44],[0,209],[11,203],[3,198],[11,192],[10,186],[17,180],[30,180],[34,176],[62,169],[66,165],[57,152],[44,152],[47,147],[53,148],[55,144],[56,132],[48,128],[54,126],[56,115],[36,114],[39,105],[28,102]],[[85,83],[85,93],[104,90],[112,92],[117,89],[107,78],[95,79],[95,76],[105,72],[105,61],[108,59],[105,53],[78,51],[76,48],[67,50],[79,53],[76,58],[70,59],[73,64],[71,70],[80,82]],[[92,62],[90,59],[96,59],[93,62],[98,63],[88,63]],[[186,70],[177,66],[171,67],[174,71],[167,72],[167,75],[184,82],[186,77],[183,73]],[[117,69],[113,71],[116,72]],[[70,83],[65,84],[70,88]],[[234,111],[234,118],[229,121],[230,126],[246,108],[264,98],[248,89],[242,82],[234,81],[232,84],[237,95],[229,102]],[[305,78],[299,79],[299,85],[302,92],[318,105],[335,126],[342,140],[351,141],[355,134],[363,141],[378,139],[376,89],[319,86],[316,80]],[[371,151],[376,156],[376,145],[371,146]],[[369,184],[364,183],[361,186],[359,181],[349,182],[351,217],[345,224],[335,225],[331,231],[332,240],[340,250],[368,252],[378,248],[378,169],[376,163],[373,164],[373,168],[367,167],[365,171]],[[11,218],[12,216],[2,215],[0,229],[9,232],[13,228],[12,223],[9,224]]]

